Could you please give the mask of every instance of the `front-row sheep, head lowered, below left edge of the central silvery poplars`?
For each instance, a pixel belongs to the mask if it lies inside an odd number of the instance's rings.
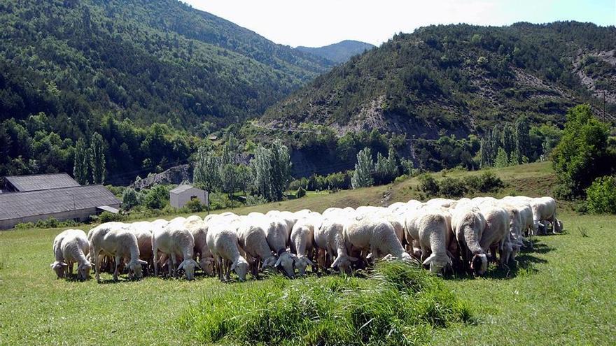
[[[251,273],[258,277],[259,262],[263,261],[263,267],[273,267],[276,264],[276,256],[269,249],[265,238],[265,226],[263,226],[267,222],[265,215],[252,216],[246,217],[237,229],[237,241],[239,247],[246,252]]]

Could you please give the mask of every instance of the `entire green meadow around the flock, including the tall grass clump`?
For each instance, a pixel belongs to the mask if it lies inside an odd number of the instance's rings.
[[[545,163],[493,172],[505,182],[499,194],[550,194],[554,182]],[[478,173],[450,171],[435,173],[435,177],[443,174]],[[308,195],[233,211],[245,214],[272,208],[322,211],[329,206],[388,205],[419,196],[417,184],[412,178],[384,187]],[[193,282],[154,277],[132,282],[125,280],[125,275],[113,282],[111,275],[104,274],[103,283],[97,284],[95,280],[55,278],[49,268],[51,247],[61,229],[2,231],[0,344],[248,344],[246,338],[252,337],[263,345],[268,341],[314,345],[333,337],[344,344],[344,340],[351,340],[349,333],[365,334],[372,328],[370,335],[382,338],[358,337],[358,345],[386,344],[395,333],[402,336],[391,340],[416,336],[418,343],[433,345],[453,341],[459,345],[615,345],[616,255],[611,244],[616,216],[577,215],[566,204],[559,208],[563,233],[537,238],[534,249],[524,250],[516,266],[491,266],[481,278],[441,278],[409,268],[402,269],[410,277],[404,281],[400,276],[388,278],[391,268],[384,266],[356,277],[311,275],[286,280],[270,275],[265,280],[231,283],[202,276]],[[400,282],[419,282],[425,289],[407,291],[406,284],[400,286]],[[258,299],[269,301],[260,303]],[[371,305],[372,301],[398,308],[384,310],[379,308],[382,304]],[[266,307],[272,311],[265,313]],[[233,315],[238,312],[250,313]],[[321,330],[310,329],[314,314],[324,321]],[[348,323],[357,322],[358,316],[372,316],[368,319],[372,322],[361,328]],[[396,328],[379,327],[374,321],[395,322]],[[272,324],[276,322],[294,329]],[[383,334],[381,329],[387,328]],[[241,334],[259,330],[271,333]],[[310,331],[310,338],[290,338],[302,330]],[[279,338],[284,333],[288,333],[288,340]]]

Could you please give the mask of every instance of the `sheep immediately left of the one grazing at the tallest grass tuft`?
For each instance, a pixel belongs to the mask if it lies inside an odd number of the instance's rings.
[[[344,218],[345,213],[325,217],[320,227],[314,229],[314,246],[317,248],[317,259],[322,268],[325,268],[325,256],[331,268],[339,268],[341,273],[350,273],[351,262],[357,261],[350,257],[344,244]],[[333,258],[335,256],[335,259]]]

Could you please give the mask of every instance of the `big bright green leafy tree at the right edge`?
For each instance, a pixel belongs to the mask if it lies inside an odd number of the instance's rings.
[[[552,152],[561,196],[583,196],[595,178],[611,173],[616,158],[608,152],[609,135],[608,124],[597,120],[588,105],[568,110],[563,136]]]

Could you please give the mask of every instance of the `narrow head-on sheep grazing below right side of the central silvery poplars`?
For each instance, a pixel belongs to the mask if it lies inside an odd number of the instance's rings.
[[[265,229],[265,239],[267,240],[269,248],[278,256],[274,266],[276,268],[282,268],[286,276],[293,277],[295,275],[295,271],[293,270],[295,255],[286,250],[289,243],[290,231],[286,219],[274,213],[269,215],[269,224]]]

